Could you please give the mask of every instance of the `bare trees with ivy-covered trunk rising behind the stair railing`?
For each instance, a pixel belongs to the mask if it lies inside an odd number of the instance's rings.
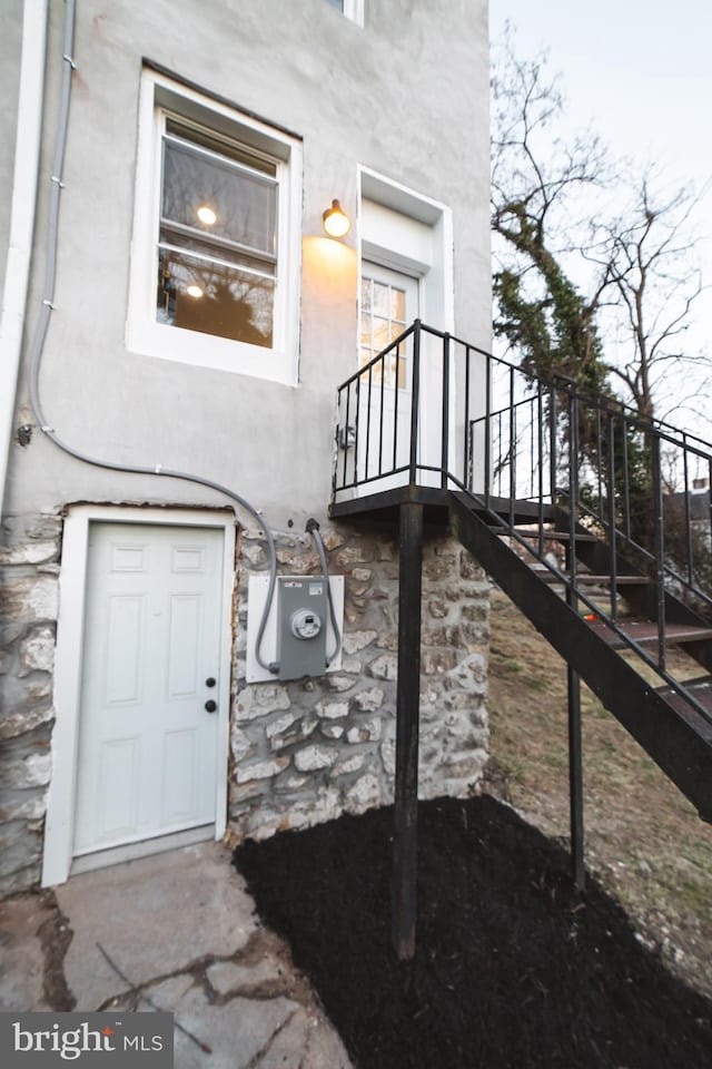
[[[591,133],[556,137],[564,98],[546,56],[518,59],[511,28],[494,52],[495,333],[532,370],[617,383],[652,418],[669,375],[709,359],[681,344],[705,290],[692,228],[705,190],[614,168]],[[617,210],[592,209],[604,194]]]

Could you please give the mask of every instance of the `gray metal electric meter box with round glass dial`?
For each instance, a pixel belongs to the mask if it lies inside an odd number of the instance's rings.
[[[323,676],[329,602],[324,576],[277,579],[279,679]]]

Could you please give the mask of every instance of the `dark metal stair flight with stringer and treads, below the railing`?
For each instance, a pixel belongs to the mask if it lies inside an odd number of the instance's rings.
[[[690,798],[700,815],[712,821],[712,677],[690,686],[657,669],[660,683],[655,687],[649,681],[650,674],[644,676],[636,670],[635,659],[622,656],[632,650],[643,664],[652,663],[657,668],[657,622],[640,611],[622,617],[620,605],[625,599],[637,609],[635,602],[650,595],[651,580],[627,571],[614,582],[611,569],[578,570],[586,557],[597,558],[600,565],[601,557],[607,555],[605,543],[590,540],[591,536],[575,541],[575,579],[570,570],[557,575],[558,569],[533,568],[503,540],[503,534],[511,538],[512,529],[487,522],[487,514],[468,494],[453,494],[451,518],[463,546]],[[537,539],[538,532],[527,532],[523,538]],[[617,563],[625,567],[620,560]],[[594,595],[596,588],[599,597]],[[610,601],[612,595],[616,602],[615,622],[610,611],[601,608],[602,600]],[[671,645],[684,644],[685,650],[708,667],[712,627],[672,595],[665,601],[665,653]],[[582,616],[575,602],[583,604],[589,612]]]

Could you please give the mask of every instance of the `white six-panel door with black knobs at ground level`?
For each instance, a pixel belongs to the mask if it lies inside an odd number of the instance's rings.
[[[90,526],[76,855],[215,822],[221,568],[219,530]]]

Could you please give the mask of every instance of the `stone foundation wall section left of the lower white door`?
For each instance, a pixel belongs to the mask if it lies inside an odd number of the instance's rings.
[[[36,885],[42,861],[61,519],[9,518],[0,545],[0,895]]]

